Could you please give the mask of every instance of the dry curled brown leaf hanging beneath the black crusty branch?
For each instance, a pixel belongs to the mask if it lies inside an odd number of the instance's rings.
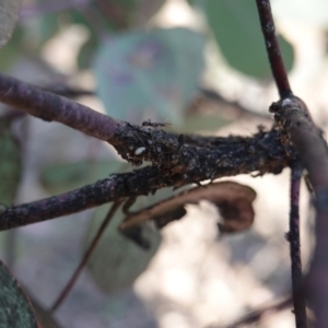
[[[220,209],[223,219],[223,223],[219,223],[221,232],[241,232],[253,224],[254,209],[251,202],[255,198],[256,192],[250,187],[233,181],[213,183],[184,191],[129,214],[120,225],[120,230],[129,230],[148,220],[154,220],[159,227],[163,227],[171,221],[178,220],[184,215],[186,203],[208,200]]]

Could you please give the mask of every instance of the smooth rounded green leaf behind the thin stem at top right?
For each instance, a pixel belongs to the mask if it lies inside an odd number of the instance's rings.
[[[206,0],[204,12],[221,51],[231,66],[245,74],[271,75],[255,1]],[[293,66],[293,48],[281,36],[280,47],[286,69]]]

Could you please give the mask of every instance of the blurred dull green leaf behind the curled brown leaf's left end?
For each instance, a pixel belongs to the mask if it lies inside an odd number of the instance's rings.
[[[153,196],[139,197],[132,206],[132,210],[145,208],[172,196],[172,194],[171,188],[165,188],[157,190]],[[103,206],[95,212],[87,230],[87,245],[102,224],[107,211],[108,206]],[[108,293],[130,286],[148,268],[161,243],[159,232],[148,224],[142,225],[143,236],[151,245],[148,250],[122,236],[118,232],[118,226],[125,216],[122,212],[116,212],[87,265],[96,285]]]

